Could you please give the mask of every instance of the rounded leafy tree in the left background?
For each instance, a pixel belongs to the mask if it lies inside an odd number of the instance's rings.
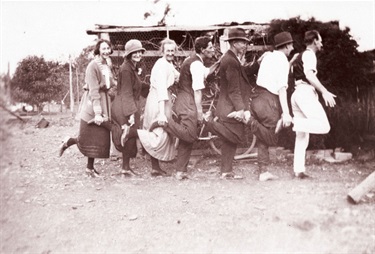
[[[65,78],[63,65],[45,61],[43,57],[29,56],[18,64],[11,80],[12,98],[41,110],[44,103],[62,97]]]

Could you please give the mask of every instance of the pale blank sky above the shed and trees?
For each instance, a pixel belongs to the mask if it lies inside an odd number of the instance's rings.
[[[167,0],[155,8],[163,9]],[[3,1],[1,0],[0,73],[11,74],[29,55],[67,61],[92,45],[86,30],[95,24],[155,25],[143,20],[152,0],[134,1]],[[375,1],[183,1],[169,0],[176,25],[212,25],[236,21],[268,23],[272,19],[301,16],[318,21],[338,20],[349,27],[359,51],[375,49]]]

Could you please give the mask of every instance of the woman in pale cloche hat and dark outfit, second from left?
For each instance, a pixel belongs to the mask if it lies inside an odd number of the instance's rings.
[[[139,40],[125,44],[125,59],[120,67],[117,94],[112,103],[112,119],[124,129],[120,140],[113,140],[117,150],[122,152],[124,176],[134,176],[129,162],[137,155],[137,129],[140,122],[140,96],[142,91],[141,60],[146,51]]]

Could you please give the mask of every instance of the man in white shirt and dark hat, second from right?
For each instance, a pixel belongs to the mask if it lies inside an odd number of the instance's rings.
[[[245,122],[257,137],[259,180],[275,180],[278,177],[268,171],[268,148],[276,146],[281,126],[292,122],[287,103],[289,61],[293,50],[293,38],[289,32],[274,37],[275,50],[265,53],[257,76],[257,86],[251,101],[251,114],[245,112]],[[281,119],[280,119],[281,118]]]

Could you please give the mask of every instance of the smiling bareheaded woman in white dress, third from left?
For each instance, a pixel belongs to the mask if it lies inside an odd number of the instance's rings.
[[[151,157],[151,176],[166,175],[159,166],[159,160],[171,161],[176,156],[175,138],[162,128],[168,124],[167,119],[172,114],[172,94],[168,88],[178,81],[180,75],[172,64],[176,49],[176,42],[171,39],[164,39],[161,42],[163,56],[156,61],[151,70],[151,85],[145,105],[143,130],[138,130],[139,140]],[[154,122],[161,127],[150,131]]]

